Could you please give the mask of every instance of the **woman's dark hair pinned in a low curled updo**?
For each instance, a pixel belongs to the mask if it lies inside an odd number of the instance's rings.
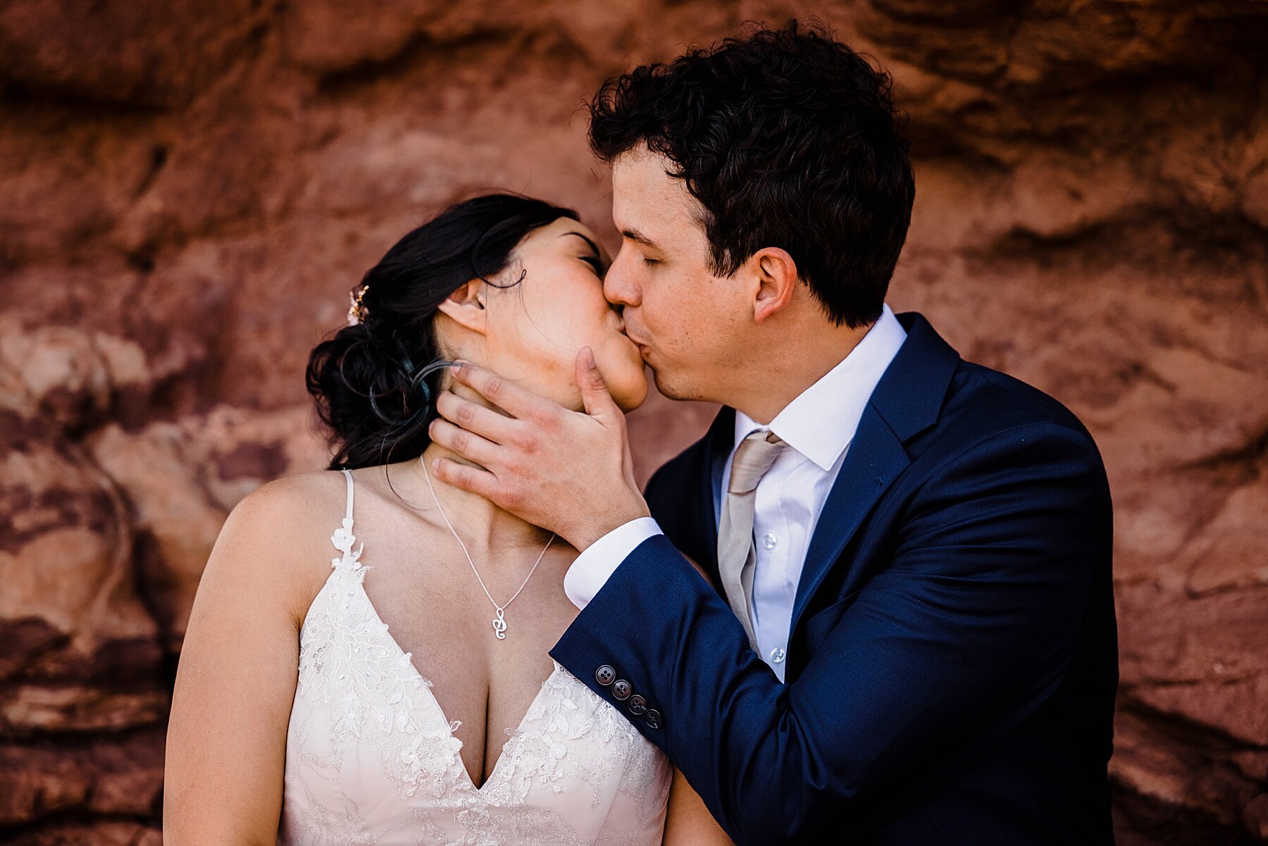
[[[515,194],[458,203],[413,230],[361,278],[360,323],[308,356],[306,382],[330,430],[330,469],[417,458],[431,439],[434,398],[449,364],[440,356],[436,308],[472,279],[506,270],[526,235],[572,209]],[[510,285],[524,280],[521,273]]]

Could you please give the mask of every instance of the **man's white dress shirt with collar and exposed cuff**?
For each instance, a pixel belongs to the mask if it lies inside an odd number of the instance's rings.
[[[789,628],[801,567],[864,408],[876,383],[898,354],[907,332],[886,304],[880,320],[844,359],[762,426],[735,412],[730,452],[713,468],[714,520],[720,520],[721,496],[730,481],[730,463],[739,443],[756,430],[779,435],[782,450],[757,485],[753,538],[757,562],[749,615],[762,660],[784,681]],[[652,517],[639,517],[591,544],[564,575],[563,586],[577,608],[586,608],[616,567],[648,538],[661,534]]]

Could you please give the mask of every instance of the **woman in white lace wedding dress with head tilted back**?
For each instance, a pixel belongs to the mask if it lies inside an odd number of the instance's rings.
[[[588,345],[616,402],[643,402],[606,264],[574,212],[493,194],[365,274],[308,365],[330,471],[242,500],[199,585],[165,842],[729,842],[663,753],[549,657],[577,614],[576,549],[427,472],[458,459],[427,438],[454,359],[579,411]]]

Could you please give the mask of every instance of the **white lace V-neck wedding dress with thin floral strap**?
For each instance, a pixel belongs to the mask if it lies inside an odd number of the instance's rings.
[[[342,554],[301,630],[278,842],[659,843],[668,761],[558,663],[476,788],[431,682],[361,585],[373,568],[353,550],[344,473]]]

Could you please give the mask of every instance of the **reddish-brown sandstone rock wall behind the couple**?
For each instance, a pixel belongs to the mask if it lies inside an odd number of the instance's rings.
[[[581,104],[744,20],[895,77],[893,285],[1110,468],[1118,841],[1268,842],[1268,4],[0,5],[0,840],[160,842],[181,633],[228,510],[323,464],[308,350],[441,205],[571,204]],[[713,410],[631,420],[643,478]]]

